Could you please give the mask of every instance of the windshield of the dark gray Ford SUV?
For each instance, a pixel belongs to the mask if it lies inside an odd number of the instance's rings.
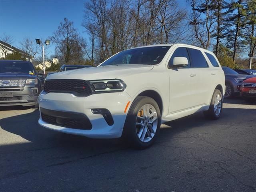
[[[0,62],[0,73],[26,73],[35,74],[34,67],[30,62]]]

